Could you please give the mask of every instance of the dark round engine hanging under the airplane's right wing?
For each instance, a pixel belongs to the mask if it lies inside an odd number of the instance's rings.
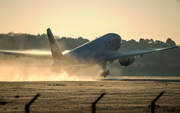
[[[134,60],[135,60],[134,56],[127,57],[127,58],[121,58],[121,59],[119,59],[119,63],[122,66],[128,66],[128,65],[131,65],[134,62]]]

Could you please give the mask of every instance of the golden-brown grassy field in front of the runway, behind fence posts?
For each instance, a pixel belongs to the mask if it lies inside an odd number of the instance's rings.
[[[33,81],[0,82],[0,111],[25,112],[25,105],[35,95],[40,96],[30,106],[30,112],[91,113],[92,103],[98,113],[150,113],[151,101],[156,113],[180,112],[180,78],[125,77],[96,81]]]

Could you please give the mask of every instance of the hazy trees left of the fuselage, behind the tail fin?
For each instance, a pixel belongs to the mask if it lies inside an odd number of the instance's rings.
[[[55,36],[56,41],[62,51],[73,49],[81,44],[88,42],[88,39],[82,37],[59,37]],[[4,50],[27,50],[27,49],[45,49],[49,50],[49,41],[47,34],[24,34],[13,33],[0,34],[0,49]]]

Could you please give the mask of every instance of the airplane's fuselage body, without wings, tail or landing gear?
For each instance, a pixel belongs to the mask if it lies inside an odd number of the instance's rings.
[[[97,63],[117,52],[120,45],[121,37],[115,33],[108,33],[73,49],[64,56],[71,58],[77,64]]]

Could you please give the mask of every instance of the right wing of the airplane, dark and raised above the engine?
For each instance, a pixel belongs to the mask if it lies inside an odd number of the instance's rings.
[[[167,48],[149,49],[149,50],[117,52],[114,55],[111,55],[110,57],[108,57],[106,59],[106,61],[116,60],[116,59],[120,59],[120,58],[131,57],[131,56],[144,55],[144,54],[148,54],[148,53],[152,53],[152,52],[164,51],[164,50],[173,49],[173,48],[177,48],[177,46],[172,46],[172,47],[167,47]]]

